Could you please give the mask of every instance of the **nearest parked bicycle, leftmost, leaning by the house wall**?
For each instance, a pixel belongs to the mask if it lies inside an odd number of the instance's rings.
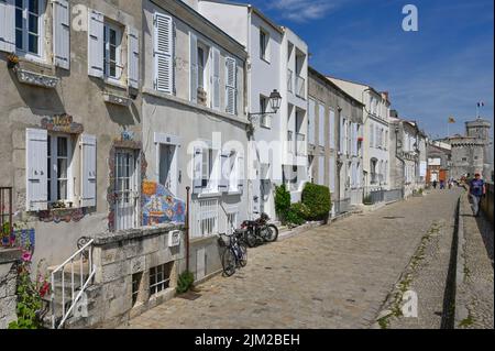
[[[239,267],[248,265],[248,246],[243,241],[245,231],[235,230],[233,234],[220,235],[227,238],[226,250],[222,254],[223,273],[226,276],[232,276]]]

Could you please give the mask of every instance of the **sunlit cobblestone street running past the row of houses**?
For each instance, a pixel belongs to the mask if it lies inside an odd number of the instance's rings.
[[[460,195],[432,191],[250,250],[245,268],[200,285],[198,299],[174,298],[124,327],[370,328],[422,238],[452,222]]]

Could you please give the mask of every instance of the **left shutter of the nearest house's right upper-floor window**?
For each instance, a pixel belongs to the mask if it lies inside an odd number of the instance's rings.
[[[103,34],[105,15],[95,10],[88,10],[88,75],[103,77]]]

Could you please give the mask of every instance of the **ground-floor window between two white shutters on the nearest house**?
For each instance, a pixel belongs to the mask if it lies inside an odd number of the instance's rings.
[[[67,135],[48,135],[47,194],[48,202],[69,201],[70,139]]]

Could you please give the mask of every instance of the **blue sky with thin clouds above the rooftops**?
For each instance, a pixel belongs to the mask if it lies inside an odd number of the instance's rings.
[[[253,0],[310,47],[319,72],[391,92],[402,117],[436,138],[448,118],[462,133],[477,101],[494,117],[493,0]],[[419,31],[404,32],[403,7],[419,11]]]

